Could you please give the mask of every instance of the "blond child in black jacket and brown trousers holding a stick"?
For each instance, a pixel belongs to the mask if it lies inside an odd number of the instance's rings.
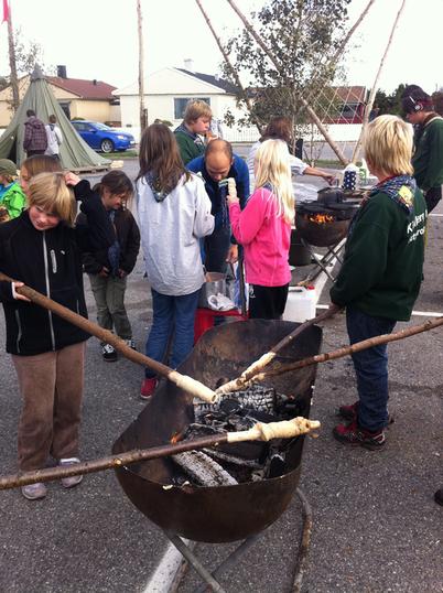
[[[40,159],[39,163],[32,162]],[[45,159],[26,159],[21,169],[28,209],[0,226],[0,270],[15,282],[0,282],[7,326],[7,352],[19,379],[23,408],[19,422],[18,453],[21,472],[41,470],[50,454],[61,465],[78,463],[78,432],[87,333],[33,304],[17,292],[23,282],[72,311],[87,316],[82,282],[82,251],[107,248],[114,231],[89,183],[73,173],[40,173]],[[58,168],[60,165],[55,163]],[[48,166],[53,166],[48,164]],[[74,193],[84,196],[80,209],[87,226],[74,227]],[[62,485],[76,486],[82,476]],[[46,496],[43,483],[22,487],[30,500]]]

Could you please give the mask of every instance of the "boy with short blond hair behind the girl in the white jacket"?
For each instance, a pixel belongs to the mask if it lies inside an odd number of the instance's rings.
[[[186,105],[183,122],[174,130],[184,164],[204,153],[205,143],[201,136],[205,137],[209,131],[212,116],[210,107],[205,101],[195,100]]]

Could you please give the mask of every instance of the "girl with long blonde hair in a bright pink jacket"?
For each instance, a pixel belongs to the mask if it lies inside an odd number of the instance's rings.
[[[245,249],[251,319],[280,319],[287,304],[295,204],[289,162],[284,142],[266,140],[256,154],[256,191],[245,209],[236,196],[228,196],[233,234]]]

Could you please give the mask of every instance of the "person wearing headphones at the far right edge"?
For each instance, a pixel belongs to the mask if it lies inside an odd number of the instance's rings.
[[[443,118],[433,111],[431,96],[417,85],[406,87],[401,105],[415,130],[412,166],[430,213],[442,198]]]

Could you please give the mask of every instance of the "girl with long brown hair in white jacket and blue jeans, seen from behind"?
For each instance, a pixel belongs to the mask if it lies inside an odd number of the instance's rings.
[[[198,239],[210,235],[214,216],[203,181],[183,166],[166,126],[153,123],[143,131],[139,159],[137,212],[153,310],[147,355],[162,362],[174,332],[170,364],[176,368],[194,344],[205,282]],[[148,399],[155,386],[155,375],[147,369],[141,397]]]

